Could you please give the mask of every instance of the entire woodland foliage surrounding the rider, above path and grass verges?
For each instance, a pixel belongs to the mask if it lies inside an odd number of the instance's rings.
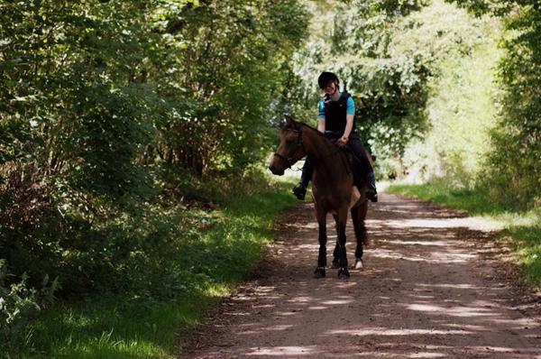
[[[53,292],[189,288],[185,209],[267,180],[322,70],[380,178],[538,206],[540,26],[533,0],[0,1],[0,323]]]

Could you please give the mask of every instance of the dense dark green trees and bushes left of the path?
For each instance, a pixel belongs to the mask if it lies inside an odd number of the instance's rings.
[[[254,164],[305,8],[32,0],[2,2],[0,23],[2,289],[39,303],[49,275],[62,299],[193,290],[212,270],[179,264],[197,230],[225,225],[213,209],[228,195],[268,189]],[[215,241],[228,261],[247,255]]]

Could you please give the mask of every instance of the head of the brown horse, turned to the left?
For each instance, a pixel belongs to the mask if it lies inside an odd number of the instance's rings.
[[[280,144],[272,156],[269,170],[273,174],[283,175],[295,162],[306,156],[302,143],[303,125],[289,116],[286,116],[286,124],[280,130]]]

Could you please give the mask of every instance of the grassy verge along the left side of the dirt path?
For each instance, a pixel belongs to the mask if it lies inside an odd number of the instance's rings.
[[[174,262],[175,272],[181,275],[174,299],[126,293],[58,304],[25,330],[22,350],[4,356],[159,358],[179,354],[179,333],[196,326],[206,310],[230,294],[261,259],[277,214],[295,203],[289,187],[236,197],[221,209],[184,211],[179,256]]]

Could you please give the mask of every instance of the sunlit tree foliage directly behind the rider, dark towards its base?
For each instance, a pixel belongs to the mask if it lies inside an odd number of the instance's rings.
[[[314,32],[296,69],[310,89],[307,94],[313,94],[320,71],[338,74],[355,98],[362,140],[380,159],[400,155],[425,129],[425,83],[430,74],[420,53],[425,49],[410,43],[407,51],[398,51],[395,42],[403,31],[401,19],[421,6],[417,1],[381,0],[336,4],[333,25]],[[316,15],[316,23],[329,21],[327,14]]]

